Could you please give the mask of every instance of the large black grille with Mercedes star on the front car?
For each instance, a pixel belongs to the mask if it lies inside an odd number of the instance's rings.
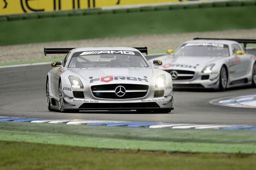
[[[143,84],[104,84],[92,86],[91,90],[97,98],[128,99],[146,96],[148,86]]]

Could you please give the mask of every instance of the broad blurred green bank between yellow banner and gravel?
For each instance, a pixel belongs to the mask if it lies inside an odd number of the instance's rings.
[[[255,11],[256,6],[240,6],[2,21],[0,45],[249,29],[256,27]]]

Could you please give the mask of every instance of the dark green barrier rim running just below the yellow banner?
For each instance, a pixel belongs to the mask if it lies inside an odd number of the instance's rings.
[[[115,14],[126,12],[148,12],[159,10],[178,10],[178,9],[195,9],[195,8],[216,8],[216,7],[237,7],[237,6],[255,6],[256,0],[240,0],[240,1],[216,1],[216,2],[192,2],[192,3],[173,3],[168,5],[150,5],[146,7],[133,7],[133,8],[117,8],[117,9],[84,9],[84,10],[70,10],[70,11],[54,11],[54,12],[35,12],[25,14],[13,14],[0,16],[0,22],[14,21],[14,20],[27,20],[27,19],[40,19],[61,16],[75,16],[75,15],[94,15],[94,14]]]

